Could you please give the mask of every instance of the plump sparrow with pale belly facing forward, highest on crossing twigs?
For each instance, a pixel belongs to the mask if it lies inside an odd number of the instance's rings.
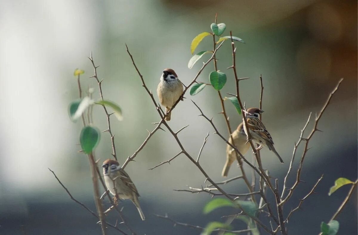
[[[165,107],[166,121],[170,121],[170,108],[178,101],[183,100],[183,84],[173,69],[164,69],[160,77],[157,93],[161,105]]]

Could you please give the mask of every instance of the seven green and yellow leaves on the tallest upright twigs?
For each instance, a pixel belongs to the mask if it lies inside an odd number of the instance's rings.
[[[209,32],[203,32],[203,33],[200,33],[198,34],[192,41],[192,44],[190,45],[190,52],[192,54],[194,54],[194,51],[195,49],[197,48],[197,46],[200,44],[200,42],[206,37],[206,36],[209,36],[209,35],[212,35],[214,37],[214,41],[215,41],[215,36],[221,36],[225,29],[226,29],[226,24],[224,23],[220,23],[220,24],[216,24],[216,23],[212,23],[210,25],[210,28],[212,30],[212,33],[209,33]],[[218,44],[220,43],[221,41],[224,41],[224,40],[227,40],[227,39],[231,39],[234,40],[234,41],[239,41],[241,43],[244,43],[245,44],[245,41],[242,40],[241,38],[238,38],[236,36],[223,36],[223,37],[220,37],[218,41],[216,41],[215,44]],[[214,53],[213,50],[204,50],[204,51],[201,51],[197,54],[194,54],[192,58],[190,58],[189,60],[189,63],[188,63],[188,68],[191,69],[193,68],[194,64],[197,63],[200,58],[203,57],[203,55],[205,54],[212,54]],[[209,82],[210,84],[212,85],[212,87],[219,91],[221,90],[224,85],[226,84],[226,81],[227,81],[227,77],[226,77],[226,74],[223,73],[223,72],[220,72],[219,70],[217,71],[212,71],[210,74],[209,74]],[[198,83],[198,84],[195,84],[193,85],[191,88],[190,88],[190,95],[191,96],[195,96],[196,94],[198,94],[200,91],[202,91],[205,86],[207,84],[206,83]],[[231,103],[235,106],[236,108],[236,111],[241,114],[241,107],[237,101],[237,98],[236,97],[231,97],[231,98],[227,98],[226,99],[230,100]],[[226,100],[225,99],[225,100]]]

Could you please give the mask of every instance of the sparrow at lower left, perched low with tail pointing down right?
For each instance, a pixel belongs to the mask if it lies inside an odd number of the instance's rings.
[[[138,201],[139,193],[129,175],[122,170],[117,161],[112,159],[104,161],[102,167],[106,186],[115,199],[130,199],[137,207],[142,220],[145,220]]]

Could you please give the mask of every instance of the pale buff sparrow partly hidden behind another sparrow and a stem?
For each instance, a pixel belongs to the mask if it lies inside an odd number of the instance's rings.
[[[247,143],[247,137],[244,132],[243,123],[240,123],[240,125],[237,127],[237,129],[234,132],[232,132],[231,135],[232,138],[234,139],[234,143],[235,143],[234,146],[242,155],[244,155],[247,152],[247,150],[250,148],[250,143]],[[232,144],[230,137],[229,137],[229,142]],[[229,172],[229,168],[235,160],[236,160],[236,151],[232,147],[227,145],[226,163],[223,168],[223,172],[221,173],[223,177],[227,176],[227,173]]]

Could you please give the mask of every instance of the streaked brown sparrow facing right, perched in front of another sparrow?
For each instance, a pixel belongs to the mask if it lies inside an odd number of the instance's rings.
[[[261,109],[258,108],[249,108],[246,111],[246,119],[248,124],[248,129],[250,130],[250,134],[252,140],[259,145],[265,146],[269,148],[270,151],[274,152],[276,156],[280,159],[281,163],[284,163],[280,155],[277,153],[274,147],[274,141],[272,141],[272,137],[270,133],[267,131],[266,127],[262,124],[260,119],[258,119],[258,115],[263,113]],[[247,135],[247,128],[244,124],[244,130]]]

